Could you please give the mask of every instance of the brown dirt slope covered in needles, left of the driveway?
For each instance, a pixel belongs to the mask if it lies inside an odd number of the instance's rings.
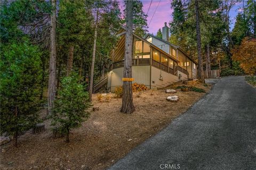
[[[181,85],[176,83],[174,87]],[[209,91],[211,85],[197,83],[196,87]],[[165,94],[165,89],[134,92],[132,114],[119,112],[122,99],[114,98],[114,94],[108,94],[109,103],[100,103],[93,95],[93,107],[99,107],[99,111],[91,112],[81,128],[71,131],[69,143],[65,138],[53,139],[50,120],[46,120],[46,131],[28,131],[18,139],[18,148],[10,143],[1,146],[1,169],[105,169],[205,95],[178,91],[175,95],[180,100],[171,103],[165,99],[171,96]]]

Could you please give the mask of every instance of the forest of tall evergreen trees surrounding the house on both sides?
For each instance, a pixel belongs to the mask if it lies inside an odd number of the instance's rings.
[[[130,2],[125,1],[123,11],[120,3],[1,1],[1,134],[13,135],[14,146],[20,132],[42,122],[42,108],[52,126],[67,134],[67,142],[69,131],[89,118],[93,84],[110,71],[110,51],[130,16],[125,8]],[[236,3],[243,8],[230,29]],[[133,32],[145,37],[147,13],[142,8],[141,1],[132,1],[130,22]],[[166,21],[170,42],[198,62],[199,80],[204,82],[211,69],[219,69],[221,76],[256,74],[255,1],[173,0],[171,9],[173,13],[166,11],[173,18]],[[126,85],[124,93],[130,89],[131,95],[131,84]]]

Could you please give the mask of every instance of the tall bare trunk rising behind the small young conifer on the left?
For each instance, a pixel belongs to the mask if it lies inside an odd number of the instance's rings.
[[[56,88],[56,1],[52,0],[52,15],[51,15],[51,54],[49,65],[49,83],[48,83],[48,108],[47,114],[51,114],[53,100],[55,98]]]

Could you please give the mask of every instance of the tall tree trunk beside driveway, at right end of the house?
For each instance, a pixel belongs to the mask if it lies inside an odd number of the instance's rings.
[[[203,70],[203,61],[201,56],[202,47],[201,47],[201,32],[200,32],[198,0],[195,1],[195,11],[196,11],[196,41],[197,41],[197,53],[198,53],[198,79],[204,83],[204,70]]]

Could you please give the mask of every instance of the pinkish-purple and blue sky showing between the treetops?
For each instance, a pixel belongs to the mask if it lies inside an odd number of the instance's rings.
[[[162,29],[164,26],[164,22],[167,22],[167,25],[169,25],[169,22],[172,21],[172,8],[171,8],[171,2],[172,0],[153,0],[150,6],[151,0],[142,0],[143,4],[143,11],[147,14],[148,12],[148,32],[153,33],[156,35],[156,32],[159,28]],[[120,8],[123,12],[124,10],[124,1],[120,1]],[[233,8],[230,10],[230,28],[232,29],[235,24],[235,18],[238,12],[241,12],[242,9],[242,3],[237,3]],[[150,6],[150,8],[149,8]],[[155,13],[155,14],[154,14]],[[154,15],[154,16],[153,16]],[[152,18],[153,16],[153,18]]]

